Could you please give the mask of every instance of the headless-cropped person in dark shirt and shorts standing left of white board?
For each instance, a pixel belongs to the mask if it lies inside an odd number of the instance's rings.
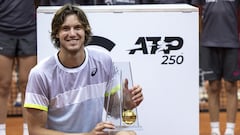
[[[0,135],[6,135],[12,73],[17,64],[22,101],[30,69],[37,63],[34,0],[0,0]],[[23,134],[28,135],[23,109]]]

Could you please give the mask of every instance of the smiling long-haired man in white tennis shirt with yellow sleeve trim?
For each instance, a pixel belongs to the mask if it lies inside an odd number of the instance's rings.
[[[31,70],[27,84],[24,107],[31,135],[108,135],[104,129],[115,128],[102,121],[102,112],[106,93],[119,85],[116,69],[109,55],[84,47],[91,35],[88,19],[78,7],[67,4],[56,12],[51,39],[59,51]],[[128,90],[131,104],[138,106],[142,88]]]

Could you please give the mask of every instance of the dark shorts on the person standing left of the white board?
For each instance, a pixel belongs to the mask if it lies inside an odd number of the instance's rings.
[[[37,36],[36,31],[13,36],[0,32],[0,55],[36,56],[37,55]]]

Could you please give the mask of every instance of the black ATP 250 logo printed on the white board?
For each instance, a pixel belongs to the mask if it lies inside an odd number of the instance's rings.
[[[182,54],[172,53],[183,47],[183,38],[181,37],[139,37],[135,45],[140,47],[128,50],[130,55],[134,55],[136,52],[142,52],[144,55],[163,52],[160,59],[162,65],[182,64],[184,61]]]

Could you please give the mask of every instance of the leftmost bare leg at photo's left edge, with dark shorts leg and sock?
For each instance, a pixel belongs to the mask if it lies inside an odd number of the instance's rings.
[[[0,135],[6,134],[8,99],[15,64],[15,38],[0,31]]]

